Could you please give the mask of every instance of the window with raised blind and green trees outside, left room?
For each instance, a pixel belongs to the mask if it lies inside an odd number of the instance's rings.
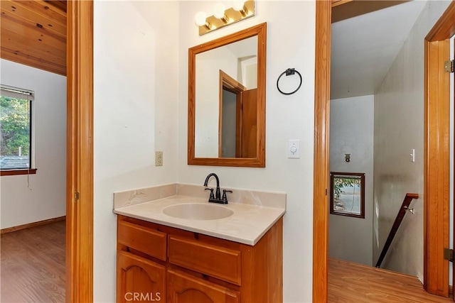
[[[1,175],[35,173],[32,149],[33,92],[1,86],[0,170]]]

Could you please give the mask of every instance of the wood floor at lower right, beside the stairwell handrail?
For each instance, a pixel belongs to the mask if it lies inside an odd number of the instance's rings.
[[[328,302],[454,302],[424,291],[417,277],[365,265],[329,259]]]

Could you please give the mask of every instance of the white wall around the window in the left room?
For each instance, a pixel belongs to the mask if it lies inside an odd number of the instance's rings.
[[[32,127],[38,169],[36,175],[0,177],[1,228],[65,216],[66,77],[0,62],[1,84],[35,92]]]

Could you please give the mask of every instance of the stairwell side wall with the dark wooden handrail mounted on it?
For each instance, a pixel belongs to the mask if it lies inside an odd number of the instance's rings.
[[[407,192],[406,214],[384,268],[423,278],[424,37],[450,1],[428,1],[375,94],[373,258],[377,260]],[[403,119],[407,117],[407,119]],[[410,153],[415,149],[415,162]]]

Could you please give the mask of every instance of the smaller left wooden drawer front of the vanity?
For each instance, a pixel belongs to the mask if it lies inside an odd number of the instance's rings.
[[[119,221],[117,242],[166,261],[166,233],[161,233],[161,231]]]

